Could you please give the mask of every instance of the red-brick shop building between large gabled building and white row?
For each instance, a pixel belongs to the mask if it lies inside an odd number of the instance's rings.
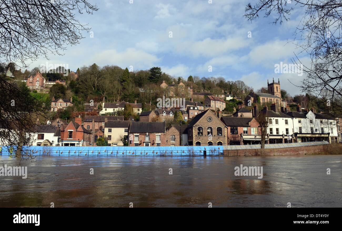
[[[260,144],[261,128],[252,117],[221,117],[226,126],[226,143],[229,145]]]

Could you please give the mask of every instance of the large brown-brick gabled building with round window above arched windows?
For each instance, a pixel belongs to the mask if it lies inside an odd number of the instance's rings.
[[[196,115],[187,126],[188,145],[226,145],[224,123],[211,110]]]

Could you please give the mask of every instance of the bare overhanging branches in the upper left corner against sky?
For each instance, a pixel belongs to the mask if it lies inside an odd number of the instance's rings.
[[[39,56],[62,54],[66,45],[79,43],[82,25],[74,11],[91,14],[96,5],[87,0],[0,0],[0,60],[24,67]]]

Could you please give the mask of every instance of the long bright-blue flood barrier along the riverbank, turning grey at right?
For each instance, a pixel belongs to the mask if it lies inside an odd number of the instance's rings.
[[[265,149],[328,144],[327,141],[265,144]],[[259,144],[225,146],[25,146],[23,153],[32,156],[236,156],[237,150],[260,149]],[[15,155],[16,147],[1,147],[1,155]]]

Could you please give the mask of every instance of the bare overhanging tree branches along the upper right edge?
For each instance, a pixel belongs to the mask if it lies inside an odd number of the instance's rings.
[[[274,24],[289,20],[294,7],[302,7],[304,15],[294,31],[293,42],[310,57],[311,63],[304,65],[295,56],[292,60],[305,77],[301,87],[326,101],[326,107],[335,117],[342,116],[342,2],[340,0],[258,0],[246,7],[245,17],[252,21],[264,11],[265,17],[275,13]],[[290,7],[291,6],[291,7]],[[297,42],[299,41],[299,42]],[[321,106],[321,105],[320,105]]]

